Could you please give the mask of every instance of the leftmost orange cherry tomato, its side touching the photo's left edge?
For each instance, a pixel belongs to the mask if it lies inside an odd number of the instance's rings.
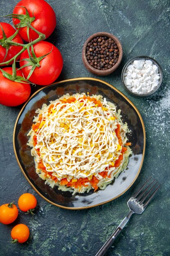
[[[10,224],[18,217],[18,208],[15,204],[2,204],[0,206],[0,222]]]

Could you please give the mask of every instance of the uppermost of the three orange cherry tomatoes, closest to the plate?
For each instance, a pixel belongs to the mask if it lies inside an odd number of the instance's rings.
[[[37,199],[34,195],[30,193],[24,193],[20,196],[18,199],[18,207],[21,211],[27,211],[27,213],[32,213],[34,211],[34,208],[37,205]]]

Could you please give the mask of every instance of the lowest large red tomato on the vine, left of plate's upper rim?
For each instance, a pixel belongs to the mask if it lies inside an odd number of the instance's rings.
[[[4,67],[3,70],[12,74],[12,67]],[[17,76],[22,76],[21,70],[17,70]],[[11,107],[18,106],[29,98],[30,93],[29,83],[11,81],[0,71],[0,104]]]

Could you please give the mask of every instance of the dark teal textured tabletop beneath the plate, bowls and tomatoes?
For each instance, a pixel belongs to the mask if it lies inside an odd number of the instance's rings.
[[[0,1],[1,16],[11,13],[18,1]],[[139,109],[146,127],[146,155],[135,184],[120,198],[92,209],[69,211],[44,201],[33,191],[15,159],[13,127],[21,107],[0,106],[0,204],[18,201],[22,193],[38,199],[34,216],[19,214],[11,225],[0,224],[0,255],[8,256],[93,256],[128,212],[132,191],[150,175],[162,182],[161,189],[141,216],[132,219],[115,241],[109,256],[170,255],[170,3],[150,1],[62,1],[48,0],[57,16],[57,27],[48,39],[62,52],[64,68],[59,80],[96,77],[82,64],[81,52],[86,38],[98,31],[117,36],[123,46],[121,65],[103,80],[123,92]],[[1,21],[6,21],[4,18]],[[11,22],[11,21],[10,21]],[[121,70],[137,55],[155,58],[163,69],[160,90],[151,97],[137,98],[121,84]],[[102,77],[100,77],[102,79]],[[36,90],[36,88],[34,88]],[[24,244],[10,243],[11,228],[25,223],[30,238]]]

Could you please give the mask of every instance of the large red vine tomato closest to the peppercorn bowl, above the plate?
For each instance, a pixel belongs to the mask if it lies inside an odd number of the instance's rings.
[[[35,70],[30,76],[29,81],[37,85],[49,85],[53,83],[60,75],[63,67],[63,59],[59,49],[57,49],[57,47],[49,42],[40,41],[33,45],[33,50],[36,57],[43,56],[49,52],[50,54],[46,55],[40,61],[40,67],[35,67]],[[20,67],[28,63],[28,61],[24,61],[25,58],[29,58],[27,50],[21,54]],[[31,66],[22,68],[22,72],[25,78],[28,77],[30,70]]]

